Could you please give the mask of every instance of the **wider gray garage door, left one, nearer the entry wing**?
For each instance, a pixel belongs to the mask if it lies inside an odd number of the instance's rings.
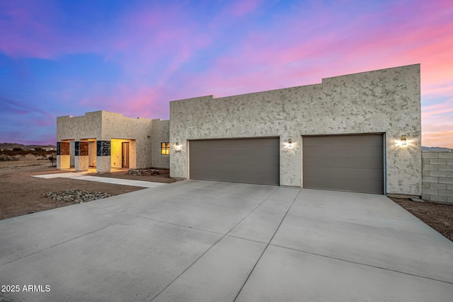
[[[190,178],[279,185],[278,138],[190,141]]]

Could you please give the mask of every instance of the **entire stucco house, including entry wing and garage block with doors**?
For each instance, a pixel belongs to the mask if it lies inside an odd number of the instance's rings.
[[[175,100],[169,121],[58,117],[58,168],[70,166],[70,141],[76,170],[170,168],[173,178],[420,196],[420,64]]]

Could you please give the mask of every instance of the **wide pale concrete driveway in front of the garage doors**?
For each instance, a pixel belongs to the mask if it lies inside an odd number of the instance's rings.
[[[0,221],[0,284],[0,301],[450,302],[453,243],[381,195],[188,180]]]

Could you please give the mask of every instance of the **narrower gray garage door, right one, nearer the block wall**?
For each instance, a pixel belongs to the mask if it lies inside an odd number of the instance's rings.
[[[384,194],[382,134],[303,137],[303,186]]]

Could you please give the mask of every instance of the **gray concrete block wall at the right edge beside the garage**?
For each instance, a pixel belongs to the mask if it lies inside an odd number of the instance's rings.
[[[453,204],[453,152],[422,152],[422,199]]]

